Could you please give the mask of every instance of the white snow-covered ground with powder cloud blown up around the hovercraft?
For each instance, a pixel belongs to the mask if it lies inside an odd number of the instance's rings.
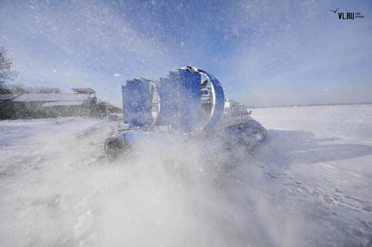
[[[0,121],[2,246],[368,246],[372,105],[252,109],[254,151],[110,160],[117,121]],[[213,145],[213,144],[211,144]]]

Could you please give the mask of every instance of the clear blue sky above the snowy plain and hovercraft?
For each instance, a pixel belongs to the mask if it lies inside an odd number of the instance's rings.
[[[21,72],[16,83],[92,88],[121,106],[125,80],[193,65],[249,106],[372,101],[371,1],[1,5],[0,46]],[[339,20],[337,8],[364,18]]]

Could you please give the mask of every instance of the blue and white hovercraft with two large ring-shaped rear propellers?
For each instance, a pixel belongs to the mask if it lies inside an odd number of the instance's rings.
[[[148,140],[165,145],[196,141],[212,154],[236,145],[251,149],[267,135],[243,103],[225,99],[219,81],[198,67],[170,71],[160,80],[127,80],[122,95],[126,128],[105,140],[109,157]]]

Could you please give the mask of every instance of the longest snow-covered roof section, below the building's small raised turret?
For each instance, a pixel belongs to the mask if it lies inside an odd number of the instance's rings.
[[[86,101],[90,94],[83,93],[25,93],[13,101]]]

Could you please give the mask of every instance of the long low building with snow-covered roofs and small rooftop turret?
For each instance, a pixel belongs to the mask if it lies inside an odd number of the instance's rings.
[[[72,90],[73,93],[0,94],[0,119],[91,115],[97,103],[96,92],[90,88]]]

